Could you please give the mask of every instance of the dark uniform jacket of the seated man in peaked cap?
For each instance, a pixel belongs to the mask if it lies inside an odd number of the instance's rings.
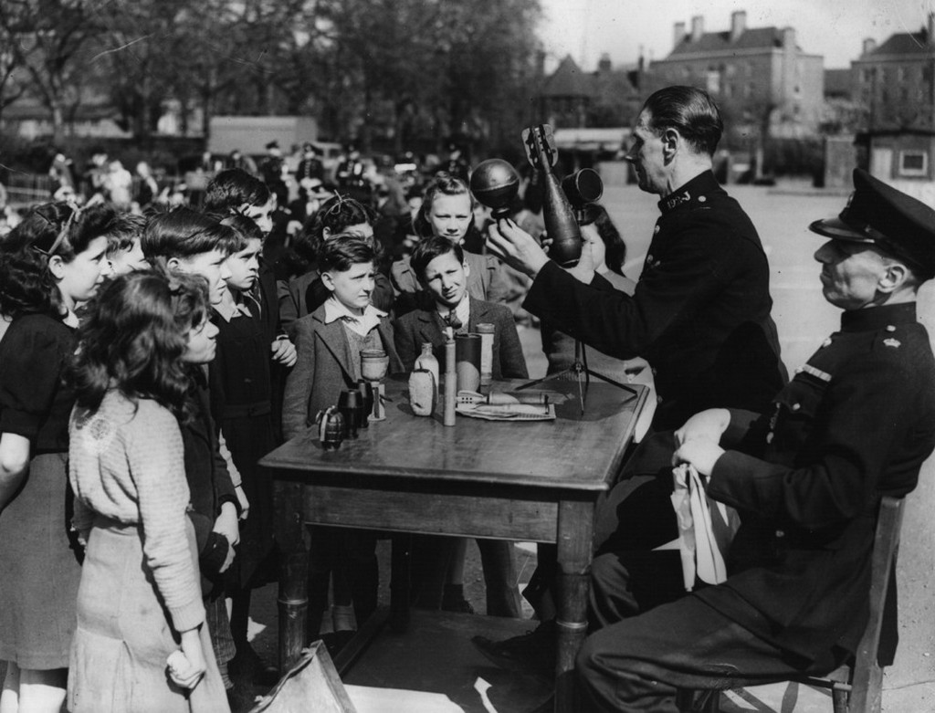
[[[914,303],[844,312],[770,412],[732,413],[730,440],[744,452],[718,459],[708,494],[741,529],[726,582],[698,596],[806,659],[853,652],[881,496],[912,491],[935,446],[935,360]]]

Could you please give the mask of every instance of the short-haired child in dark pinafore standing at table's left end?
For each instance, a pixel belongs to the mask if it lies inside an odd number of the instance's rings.
[[[228,469],[242,487],[248,506],[241,514],[237,560],[227,578],[233,599],[231,634],[237,666],[256,663],[247,643],[251,590],[264,583],[273,549],[273,488],[257,461],[277,445],[272,420],[269,337],[257,294],[263,232],[250,218],[235,214],[223,219],[240,235],[237,250],[227,258],[225,290],[213,306],[218,326],[218,350],[209,366],[209,392],[214,421],[220,428]],[[237,479],[239,478],[239,480]]]

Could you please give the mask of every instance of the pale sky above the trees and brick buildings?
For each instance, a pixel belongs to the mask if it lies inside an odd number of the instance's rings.
[[[607,52],[614,66],[635,64],[672,50],[673,25],[704,17],[705,32],[730,29],[730,14],[746,10],[747,27],[793,27],[798,46],[825,57],[825,68],[849,67],[865,37],[882,43],[895,33],[917,32],[935,0],[539,0],[545,15],[539,36],[547,70],[570,54],[592,71]]]

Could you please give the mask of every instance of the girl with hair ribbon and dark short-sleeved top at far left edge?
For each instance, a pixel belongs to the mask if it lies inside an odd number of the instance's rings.
[[[0,707],[58,713],[80,566],[65,471],[74,395],[63,385],[76,309],[103,281],[106,237],[64,203],[33,210],[3,243],[0,313]]]

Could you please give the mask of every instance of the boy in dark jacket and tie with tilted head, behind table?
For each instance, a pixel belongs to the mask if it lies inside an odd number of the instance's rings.
[[[425,238],[412,250],[410,265],[434,305],[415,309],[396,320],[396,350],[411,370],[424,342],[445,368],[444,329],[454,334],[476,332],[484,322],[494,325],[493,378],[529,378],[523,347],[509,307],[476,299],[468,293],[470,264],[461,246],[441,235]],[[520,617],[522,607],[513,563],[512,545],[501,540],[478,539],[487,590],[487,614]],[[456,546],[457,547],[457,546]],[[464,598],[463,547],[453,553],[449,581],[444,586],[441,608],[473,611]],[[434,573],[438,574],[438,573]],[[437,586],[437,585],[433,585]]]

